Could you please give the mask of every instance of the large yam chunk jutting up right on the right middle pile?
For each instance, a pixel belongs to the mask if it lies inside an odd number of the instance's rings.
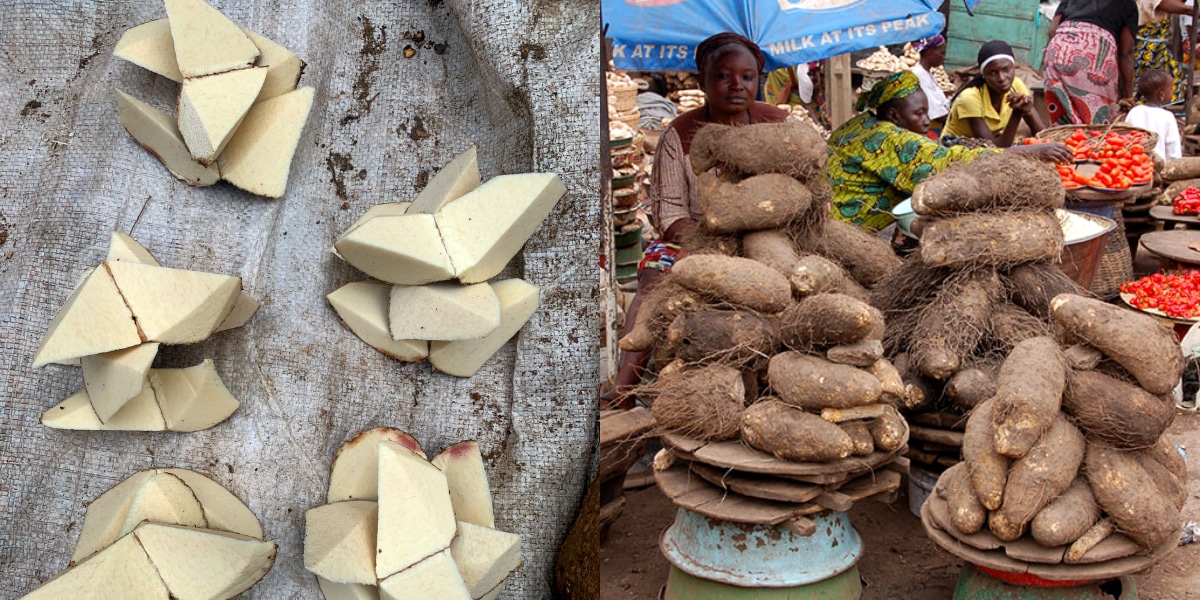
[[[434,217],[458,281],[499,275],[564,193],[552,173],[500,175],[445,205]]]

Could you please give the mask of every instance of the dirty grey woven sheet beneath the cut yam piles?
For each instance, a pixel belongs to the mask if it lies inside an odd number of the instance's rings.
[[[522,538],[504,598],[551,596],[596,434],[599,6],[514,0],[217,0],[307,62],[316,100],[287,196],[188,187],[118,120],[118,88],[174,112],[178,84],[112,56],[158,1],[0,4],[0,598],[64,568],[85,505],[137,470],[184,467],[241,498],[278,542],[247,599],[320,598],[304,570],[306,509],[334,452],[372,426],[431,456],[478,439],[497,524]],[[410,58],[406,58],[406,49]],[[518,336],[469,379],[396,362],[324,296],[366,276],[330,252],[368,206],[412,199],[470,144],[485,179],[559,173],[568,193],[503,276],[541,288]],[[160,367],[211,358],[241,402],[196,433],[73,432],[38,416],[82,388],[31,368],[50,319],[114,230],[164,266],[242,277],[262,310],[238,330],[164,347]]]

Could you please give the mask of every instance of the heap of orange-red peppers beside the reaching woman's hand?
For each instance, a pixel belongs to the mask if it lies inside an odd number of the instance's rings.
[[[1148,184],[1154,179],[1154,162],[1141,143],[1146,136],[1134,131],[1130,133],[1085,132],[1075,130],[1067,140],[1067,148],[1075,155],[1075,164],[1058,164],[1058,176],[1067,190],[1079,187],[1097,187],[1100,190],[1128,190],[1135,185]],[[1026,139],[1026,144],[1038,144],[1045,140]],[[1099,163],[1099,169],[1092,176],[1084,176],[1075,170],[1080,163]]]

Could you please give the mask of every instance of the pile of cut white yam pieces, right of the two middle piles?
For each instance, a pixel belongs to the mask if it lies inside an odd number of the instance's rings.
[[[376,281],[349,283],[326,300],[379,352],[470,377],[536,312],[535,286],[493,277],[565,191],[558,175],[544,173],[480,185],[472,146],[413,202],[372,206],[337,239],[334,252]]]

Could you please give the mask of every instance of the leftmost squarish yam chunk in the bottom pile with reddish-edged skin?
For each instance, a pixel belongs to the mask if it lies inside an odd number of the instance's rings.
[[[305,511],[304,568],[337,583],[376,582],[373,502],[337,502]]]

